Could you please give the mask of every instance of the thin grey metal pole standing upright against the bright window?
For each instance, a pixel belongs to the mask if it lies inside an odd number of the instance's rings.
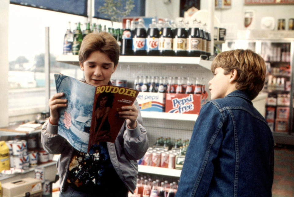
[[[45,27],[45,111],[49,111],[48,100],[50,98],[50,48],[49,48],[49,27]]]

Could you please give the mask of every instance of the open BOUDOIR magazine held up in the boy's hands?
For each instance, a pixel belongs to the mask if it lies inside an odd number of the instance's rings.
[[[139,91],[54,76],[57,93],[63,92],[62,98],[67,99],[67,107],[59,108],[58,134],[85,153],[95,143],[114,142],[125,121],[118,112],[122,106],[133,105]]]

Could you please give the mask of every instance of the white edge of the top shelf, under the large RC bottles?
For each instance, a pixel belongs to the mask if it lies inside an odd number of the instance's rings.
[[[79,59],[77,55],[60,55],[56,58],[56,61],[79,65]],[[200,57],[163,57],[163,56],[119,56],[119,63],[156,63],[156,64],[188,64],[188,65],[200,65],[210,70],[212,61],[202,60]]]

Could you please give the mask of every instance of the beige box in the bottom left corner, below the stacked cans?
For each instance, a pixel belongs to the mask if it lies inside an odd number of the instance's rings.
[[[2,184],[2,197],[23,197],[30,193],[30,197],[42,197],[41,180],[23,178]]]

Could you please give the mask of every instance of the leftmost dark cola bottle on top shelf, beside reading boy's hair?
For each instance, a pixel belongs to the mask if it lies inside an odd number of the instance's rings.
[[[126,20],[126,28],[123,30],[122,35],[122,55],[132,55],[132,32],[130,29],[130,20]]]

